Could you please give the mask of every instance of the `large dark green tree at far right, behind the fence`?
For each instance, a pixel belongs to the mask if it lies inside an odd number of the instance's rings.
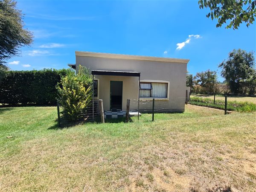
[[[234,49],[229,53],[227,61],[224,60],[218,67],[221,67],[221,76],[230,86],[231,93],[255,93],[256,69],[253,52]]]

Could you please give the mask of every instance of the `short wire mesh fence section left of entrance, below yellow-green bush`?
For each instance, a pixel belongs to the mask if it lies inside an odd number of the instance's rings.
[[[86,108],[73,115],[67,113],[60,104],[57,103],[57,105],[59,127],[69,127],[88,122],[101,122],[99,100],[90,101]]]

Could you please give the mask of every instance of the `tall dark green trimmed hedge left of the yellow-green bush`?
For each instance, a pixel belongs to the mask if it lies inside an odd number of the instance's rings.
[[[49,105],[56,103],[56,84],[71,69],[8,71],[0,82],[0,103]]]

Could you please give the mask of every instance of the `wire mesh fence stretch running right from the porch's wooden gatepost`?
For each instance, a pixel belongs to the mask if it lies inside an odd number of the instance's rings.
[[[186,119],[224,115],[234,112],[256,112],[256,95],[227,94],[216,95],[191,95],[189,99],[148,99],[130,100],[130,110],[135,115],[130,116],[130,121],[150,122],[155,120]],[[139,110],[138,110],[139,108]],[[137,112],[139,111],[140,116]]]

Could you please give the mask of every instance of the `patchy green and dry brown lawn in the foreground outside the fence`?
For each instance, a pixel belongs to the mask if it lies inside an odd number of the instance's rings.
[[[55,107],[0,108],[0,191],[255,191],[256,113],[202,108],[64,129]]]

